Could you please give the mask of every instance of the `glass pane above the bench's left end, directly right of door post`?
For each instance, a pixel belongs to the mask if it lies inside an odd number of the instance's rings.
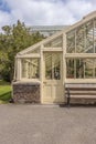
[[[66,78],[74,79],[74,60],[66,60]]]

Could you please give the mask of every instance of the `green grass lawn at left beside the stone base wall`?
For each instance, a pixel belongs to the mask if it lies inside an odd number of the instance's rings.
[[[0,80],[0,103],[7,103],[11,99],[11,84]]]

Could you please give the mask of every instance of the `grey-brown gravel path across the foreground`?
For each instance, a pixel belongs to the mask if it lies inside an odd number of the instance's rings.
[[[1,104],[0,144],[96,144],[96,107]]]

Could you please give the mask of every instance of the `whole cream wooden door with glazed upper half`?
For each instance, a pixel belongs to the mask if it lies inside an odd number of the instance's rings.
[[[43,102],[64,102],[62,53],[44,53]]]

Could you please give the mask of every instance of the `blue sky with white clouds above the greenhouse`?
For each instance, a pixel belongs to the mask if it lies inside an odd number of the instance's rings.
[[[21,20],[26,25],[70,25],[96,10],[96,0],[0,0],[0,29]]]

